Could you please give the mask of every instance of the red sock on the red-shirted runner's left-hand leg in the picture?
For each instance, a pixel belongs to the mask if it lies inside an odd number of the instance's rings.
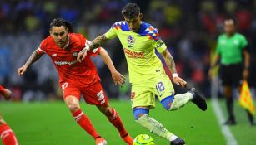
[[[85,114],[83,114],[81,109],[78,109],[78,111],[73,112],[72,114],[77,123],[93,138],[100,137],[100,135],[98,135],[96,130],[93,128],[93,124],[91,123],[90,119]]]

